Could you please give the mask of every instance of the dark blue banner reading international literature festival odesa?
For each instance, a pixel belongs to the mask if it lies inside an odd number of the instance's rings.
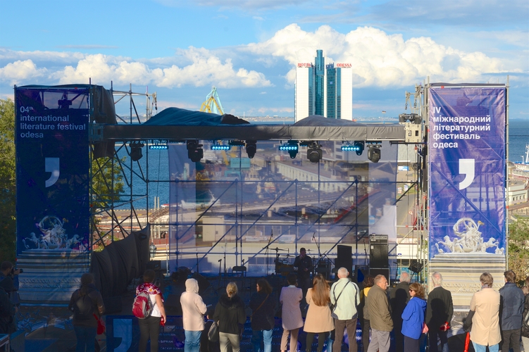
[[[89,265],[89,87],[15,88],[20,298],[69,301]]]

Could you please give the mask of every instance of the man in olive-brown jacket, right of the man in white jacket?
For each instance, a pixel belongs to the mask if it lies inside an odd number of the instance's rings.
[[[371,343],[368,352],[390,351],[390,332],[393,321],[390,314],[390,301],[387,300],[387,279],[384,275],[375,276],[375,284],[369,290],[369,322],[371,324]]]

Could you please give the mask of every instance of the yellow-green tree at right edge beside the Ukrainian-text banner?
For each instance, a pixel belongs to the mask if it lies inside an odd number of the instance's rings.
[[[518,280],[529,275],[529,218],[517,217],[509,225],[509,269]]]

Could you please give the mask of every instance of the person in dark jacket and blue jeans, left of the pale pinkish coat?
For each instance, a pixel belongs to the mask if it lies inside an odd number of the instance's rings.
[[[276,308],[272,287],[266,279],[257,280],[257,292],[251,295],[251,343],[254,351],[272,352],[272,332],[275,325],[274,312]]]

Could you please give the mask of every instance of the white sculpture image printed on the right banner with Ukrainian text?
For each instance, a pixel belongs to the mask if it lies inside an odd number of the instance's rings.
[[[503,254],[505,249],[499,248],[499,241],[491,237],[488,241],[483,241],[479,228],[484,225],[478,220],[478,224],[471,218],[461,218],[457,220],[452,229],[457,237],[450,239],[444,236],[444,241],[437,241],[435,247],[439,253],[487,253],[487,249],[495,248],[494,253]],[[440,247],[443,246],[444,248]]]

